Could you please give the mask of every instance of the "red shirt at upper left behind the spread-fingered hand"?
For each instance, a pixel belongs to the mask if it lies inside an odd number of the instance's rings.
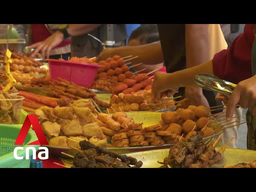
[[[52,33],[46,28],[44,24],[31,24],[32,28],[32,39],[34,43],[41,42],[46,40],[52,35]],[[58,46],[54,47],[59,48],[71,43],[70,39],[64,39]]]

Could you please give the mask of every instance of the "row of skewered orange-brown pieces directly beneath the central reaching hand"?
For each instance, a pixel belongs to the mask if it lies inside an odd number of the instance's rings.
[[[163,98],[160,101],[152,102],[151,89],[139,90],[130,94],[119,93],[112,95],[108,110],[110,113],[120,111],[156,111],[174,107],[172,99]]]

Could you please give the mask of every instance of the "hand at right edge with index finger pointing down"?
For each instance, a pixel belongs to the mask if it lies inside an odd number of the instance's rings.
[[[241,81],[232,92],[226,109],[227,120],[231,120],[238,103],[256,115],[256,76]]]

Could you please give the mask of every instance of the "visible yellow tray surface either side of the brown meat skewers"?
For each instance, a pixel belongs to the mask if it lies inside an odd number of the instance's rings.
[[[220,148],[216,148],[217,151]],[[142,168],[159,168],[164,158],[168,156],[169,149],[151,150],[143,152],[128,153],[127,156],[136,158],[143,162]],[[234,165],[242,162],[251,162],[256,160],[256,151],[245,149],[226,148],[222,153],[222,161],[212,168],[221,168],[224,165]]]

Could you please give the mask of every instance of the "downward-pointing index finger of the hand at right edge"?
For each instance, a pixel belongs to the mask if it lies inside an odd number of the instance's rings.
[[[231,120],[232,116],[234,114],[234,110],[236,108],[236,105],[238,104],[239,100],[240,100],[240,91],[236,88],[233,93],[231,94],[229,100],[228,100],[228,104],[227,104],[227,108],[226,108],[226,118],[227,120]]]

